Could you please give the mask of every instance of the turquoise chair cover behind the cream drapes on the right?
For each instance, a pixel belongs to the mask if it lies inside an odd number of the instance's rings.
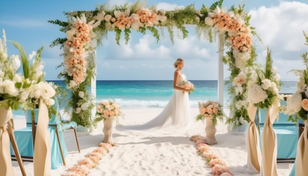
[[[286,101],[282,100],[281,105],[286,105]],[[259,110],[260,136],[262,134],[265,122],[267,108]],[[277,134],[277,158],[295,158],[298,142],[298,124],[288,121],[289,116],[279,113],[279,119],[274,121],[273,129]],[[260,138],[261,144],[261,138]],[[260,145],[261,147],[261,145]]]

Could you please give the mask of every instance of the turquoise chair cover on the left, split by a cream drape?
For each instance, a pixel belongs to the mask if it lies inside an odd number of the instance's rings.
[[[60,112],[58,99],[55,98],[55,108],[57,112]],[[35,122],[38,120],[38,109],[35,109]],[[31,123],[31,111],[26,110],[26,122]],[[52,115],[49,120],[49,125],[58,124],[59,138],[61,147],[63,150],[64,157],[67,156],[67,148],[63,136],[63,126],[59,122],[59,118],[55,115]],[[48,126],[51,140],[51,169],[57,169],[62,164],[62,157],[60,152],[60,147],[58,144],[57,134],[55,131],[55,126]],[[21,156],[33,157],[33,139],[32,139],[32,127],[31,124],[27,124],[26,128],[14,131],[16,143]],[[14,155],[13,148],[10,146],[11,155]]]

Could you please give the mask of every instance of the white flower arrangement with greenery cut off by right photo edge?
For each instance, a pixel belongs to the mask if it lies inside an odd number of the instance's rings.
[[[304,32],[306,37],[306,45],[308,45],[308,35]],[[308,115],[308,52],[302,54],[303,63],[306,66],[305,70],[291,70],[299,76],[297,82],[297,91],[287,100],[285,114],[289,114],[289,120],[297,122],[298,118],[307,120]],[[292,115],[295,114],[295,119]]]

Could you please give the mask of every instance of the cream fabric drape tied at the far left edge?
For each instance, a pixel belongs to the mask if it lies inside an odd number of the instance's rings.
[[[4,176],[14,175],[11,154],[10,154],[10,137],[7,123],[12,118],[12,109],[0,108],[0,172]]]

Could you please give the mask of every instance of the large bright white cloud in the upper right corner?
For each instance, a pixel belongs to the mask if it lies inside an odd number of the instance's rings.
[[[249,14],[251,26],[257,28],[265,45],[286,51],[304,48],[302,30],[308,29],[308,4],[281,1],[278,6],[261,6]]]

